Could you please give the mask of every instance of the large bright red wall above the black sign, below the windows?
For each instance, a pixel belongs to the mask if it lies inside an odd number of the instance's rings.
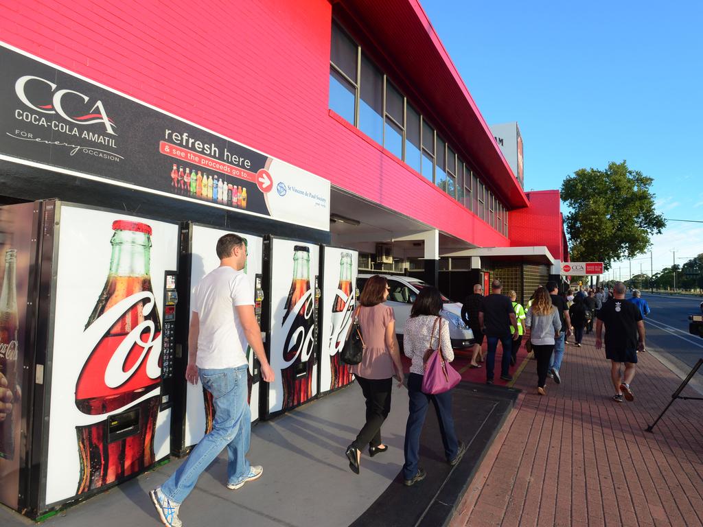
[[[458,238],[510,245],[330,115],[331,13],[328,0],[4,1],[0,39]]]

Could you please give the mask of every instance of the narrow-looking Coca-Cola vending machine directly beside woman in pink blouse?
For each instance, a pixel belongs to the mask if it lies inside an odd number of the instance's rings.
[[[354,380],[351,366],[342,362],[340,352],[356,308],[358,273],[358,252],[321,247],[320,394],[340,389]]]

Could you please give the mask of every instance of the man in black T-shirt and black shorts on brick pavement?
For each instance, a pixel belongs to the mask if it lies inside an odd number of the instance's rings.
[[[615,386],[613,401],[621,403],[624,398],[635,398],[630,383],[635,378],[637,352],[645,351],[645,323],[642,313],[632,302],[625,300],[626,287],[623,282],[616,282],[613,287],[613,299],[603,304],[598,310],[598,323],[595,324],[595,347],[602,344],[600,334],[605,325],[605,357],[609,358],[610,378]],[[638,338],[639,337],[639,338]],[[620,364],[625,363],[625,375],[620,375]]]

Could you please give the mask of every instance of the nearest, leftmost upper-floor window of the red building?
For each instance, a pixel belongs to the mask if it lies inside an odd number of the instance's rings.
[[[346,33],[332,25],[330,51],[330,109],[356,124],[356,93],[359,47]]]

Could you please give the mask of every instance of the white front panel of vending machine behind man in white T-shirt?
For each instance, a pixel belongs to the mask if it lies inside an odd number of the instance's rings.
[[[219,267],[220,261],[215,248],[217,240],[226,234],[231,234],[231,230],[221,230],[206,226],[192,225],[191,226],[191,283],[190,283],[190,306],[195,301],[195,288],[200,284],[200,280],[210,271]],[[234,233],[244,238],[247,245],[247,260],[244,272],[250,278],[252,287],[254,287],[254,301],[257,301],[256,283],[257,276],[262,273],[262,248],[264,239],[259,236],[254,236],[245,233]],[[260,280],[259,280],[260,282]],[[259,300],[259,310],[261,302],[264,301],[263,295]],[[256,304],[254,311],[257,310]],[[190,319],[191,313],[188,314]],[[182,343],[183,351],[181,360],[186,363],[188,361],[188,346],[187,341]],[[259,419],[259,376],[257,363],[254,363],[254,352],[247,346],[247,359],[249,360],[249,400],[250,410],[252,414],[252,422]],[[256,366],[256,368],[255,368]],[[179,380],[181,386],[185,386],[186,390],[186,405],[183,422],[183,445],[181,448],[175,448],[174,452],[183,454],[193,445],[198,443],[202,436],[212,430],[212,419],[214,419],[214,407],[212,405],[212,394],[202,388],[202,384],[190,384],[185,380]]]

